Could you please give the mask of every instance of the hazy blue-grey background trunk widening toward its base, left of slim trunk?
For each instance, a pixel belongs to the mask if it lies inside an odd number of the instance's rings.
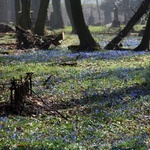
[[[63,29],[64,22],[62,18],[60,0],[52,0],[53,12],[50,17],[50,27],[52,29]]]

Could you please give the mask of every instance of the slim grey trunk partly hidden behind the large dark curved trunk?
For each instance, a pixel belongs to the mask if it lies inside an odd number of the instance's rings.
[[[72,18],[72,14],[71,14],[70,0],[65,0],[65,6],[66,6],[66,11],[67,11],[67,14],[68,14],[68,17],[70,19],[71,26],[72,26],[71,33],[76,34],[77,32],[76,32],[74,22],[73,22],[73,18]]]

